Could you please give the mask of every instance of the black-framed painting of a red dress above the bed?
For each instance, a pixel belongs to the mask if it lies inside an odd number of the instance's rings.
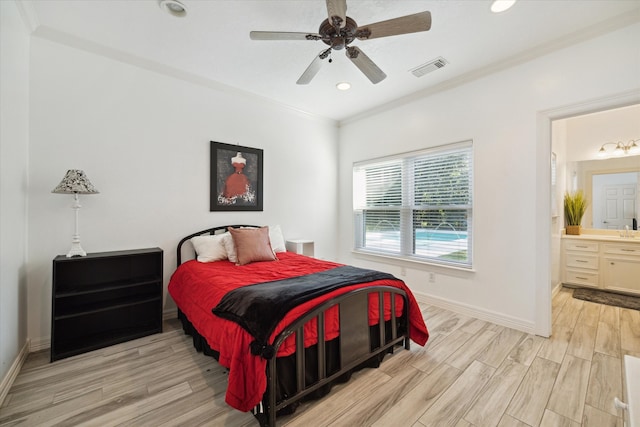
[[[259,148],[211,141],[210,211],[262,210]]]

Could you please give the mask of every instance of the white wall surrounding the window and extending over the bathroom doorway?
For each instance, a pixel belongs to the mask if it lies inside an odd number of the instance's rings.
[[[538,134],[545,128],[539,122],[554,109],[640,91],[637,40],[640,24],[344,124],[341,261],[401,273],[399,264],[351,252],[353,162],[472,139],[474,271],[409,264],[404,279],[434,302],[534,331],[543,321],[536,314],[538,288],[548,290],[551,279],[546,273],[551,258],[546,243],[551,229],[550,146],[538,146],[539,140],[549,144],[551,137],[550,130],[549,135]],[[435,283],[428,281],[427,272],[436,273]]]

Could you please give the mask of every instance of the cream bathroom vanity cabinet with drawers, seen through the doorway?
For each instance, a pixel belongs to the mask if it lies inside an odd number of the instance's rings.
[[[640,241],[563,237],[562,282],[640,294]]]

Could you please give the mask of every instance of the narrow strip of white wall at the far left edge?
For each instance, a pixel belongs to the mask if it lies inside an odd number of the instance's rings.
[[[0,2],[0,94],[1,404],[9,371],[27,340],[29,35],[9,1]]]

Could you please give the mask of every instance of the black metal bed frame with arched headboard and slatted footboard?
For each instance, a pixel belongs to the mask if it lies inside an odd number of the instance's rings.
[[[214,227],[207,230],[199,231],[184,237],[178,243],[177,264],[182,263],[182,246],[192,237],[200,235],[214,235],[225,232],[228,227],[255,227],[251,225],[232,225]],[[377,333],[379,343],[377,346],[372,344],[370,326],[369,326],[369,294],[376,293],[378,295],[379,321],[377,324]],[[391,317],[389,323],[391,325],[390,336],[387,334],[384,320],[384,294],[389,294]],[[403,299],[403,312],[401,317],[395,316],[396,298]],[[328,373],[326,369],[326,351],[324,331],[325,312],[333,307],[338,306],[339,310],[339,370]],[[317,366],[311,366],[317,372],[317,379],[311,384],[306,384],[305,372],[307,370],[307,361],[304,352],[304,325],[316,318],[317,319]],[[401,333],[398,333],[401,331]],[[296,351],[295,351],[295,384],[296,392],[292,396],[285,397],[277,402],[277,366],[276,357],[269,359],[267,363],[267,390],[262,399],[262,403],[253,409],[254,416],[258,419],[261,426],[275,427],[277,412],[291,404],[299,402],[314,391],[325,387],[336,379],[342,377],[346,373],[354,370],[358,366],[363,365],[367,361],[375,357],[382,357],[385,353],[393,353],[396,346],[404,344],[404,348],[409,350],[409,299],[404,290],[392,286],[371,286],[356,289],[354,291],[339,295],[329,299],[307,313],[300,316],[289,326],[287,326],[275,339],[273,347],[277,353],[280,345],[291,335],[296,334]]]

